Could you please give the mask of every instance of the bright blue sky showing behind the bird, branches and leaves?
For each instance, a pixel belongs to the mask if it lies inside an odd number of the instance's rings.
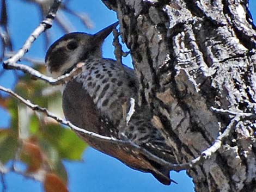
[[[76,29],[87,33],[95,33],[98,30],[108,26],[117,18],[113,11],[108,10],[101,1],[70,1],[71,8],[77,11],[86,12],[95,27],[88,30],[82,26],[82,23],[77,22],[73,17]],[[93,3],[92,3],[93,2]],[[38,26],[40,17],[38,16],[38,8],[29,4],[29,6],[21,0],[9,0],[8,2],[9,19],[10,19],[10,34],[15,39],[14,50],[18,50],[28,35]],[[256,20],[256,1],[250,1],[250,9]],[[26,10],[26,13],[24,13]],[[54,27],[53,27],[54,29]],[[53,30],[50,29],[50,30]],[[58,30],[53,35],[52,41],[56,40],[62,35]],[[28,55],[38,58],[44,58],[44,38],[42,36],[36,40]],[[112,36],[105,41],[103,45],[103,55],[108,58],[113,58]],[[1,50],[0,50],[1,51]],[[124,59],[125,64],[131,64],[131,59]],[[2,70],[0,66],[0,70]],[[7,71],[5,75],[0,78],[0,85],[8,88],[13,88],[13,72]],[[7,127],[9,123],[9,115],[0,108],[0,127]],[[132,170],[126,165],[120,163],[117,159],[106,156],[103,153],[95,151],[93,148],[88,148],[83,155],[84,162],[64,162],[69,173],[69,189],[72,192],[80,191],[175,191],[175,192],[190,192],[193,190],[193,183],[185,171],[176,173],[171,172],[172,179],[179,184],[171,184],[164,186],[151,176],[151,174],[144,174],[142,172]],[[7,191],[42,191],[42,185],[32,179],[26,179],[22,176],[10,173],[5,177],[7,181]],[[0,184],[0,190],[2,185]]]

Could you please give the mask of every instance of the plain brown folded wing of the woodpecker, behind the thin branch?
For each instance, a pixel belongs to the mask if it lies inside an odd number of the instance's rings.
[[[101,121],[102,116],[96,109],[93,99],[83,89],[82,83],[70,80],[63,92],[63,110],[67,120],[75,126],[104,136],[109,136],[111,121]],[[113,143],[100,138],[92,138],[81,132],[76,132],[90,146],[109,156],[119,159],[133,169],[143,172],[151,172],[163,184],[170,184],[169,171],[164,170],[162,165],[156,168],[148,161],[144,154],[129,143]]]

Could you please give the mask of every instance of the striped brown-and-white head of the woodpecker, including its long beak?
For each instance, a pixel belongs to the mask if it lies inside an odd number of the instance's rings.
[[[118,22],[113,23],[94,35],[69,33],[55,41],[45,55],[45,63],[52,77],[70,72],[80,61],[102,58],[102,43],[117,25]]]

